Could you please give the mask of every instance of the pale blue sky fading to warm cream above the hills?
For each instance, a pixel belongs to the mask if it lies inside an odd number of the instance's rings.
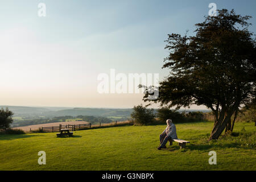
[[[38,4],[46,17],[38,16]],[[1,1],[0,105],[133,107],[143,94],[100,94],[100,73],[159,73],[167,34],[193,34],[217,9],[251,15],[256,1]],[[192,109],[205,107],[193,106]]]

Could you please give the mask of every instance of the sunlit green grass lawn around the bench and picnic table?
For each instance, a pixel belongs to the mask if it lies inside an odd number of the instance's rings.
[[[207,142],[212,122],[176,124],[177,142],[157,150],[166,126],[120,126],[75,131],[73,138],[56,133],[0,135],[0,170],[255,170],[254,123],[236,123],[237,137]],[[243,129],[244,128],[244,129]],[[217,152],[217,165],[208,163]],[[46,165],[38,152],[46,151]]]

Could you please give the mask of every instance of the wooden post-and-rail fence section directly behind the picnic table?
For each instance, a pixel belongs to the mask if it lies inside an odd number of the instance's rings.
[[[42,132],[57,132],[57,131],[60,131],[61,129],[72,129],[72,131],[77,131],[77,130],[85,130],[85,129],[88,129],[91,127],[92,127],[91,123],[81,124],[81,125],[60,125],[60,126],[42,127],[41,131]]]

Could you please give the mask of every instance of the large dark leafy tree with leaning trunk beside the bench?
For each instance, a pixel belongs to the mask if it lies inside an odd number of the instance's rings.
[[[256,49],[248,30],[250,18],[222,9],[196,24],[195,36],[168,35],[170,54],[163,68],[170,68],[170,75],[159,83],[156,100],[148,99],[150,92],[143,100],[176,108],[207,106],[215,116],[209,140],[218,139],[225,128],[232,131],[240,106],[255,98]]]

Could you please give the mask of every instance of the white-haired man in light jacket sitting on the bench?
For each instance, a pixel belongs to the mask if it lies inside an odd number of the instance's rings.
[[[177,134],[176,134],[176,126],[174,123],[172,123],[172,119],[167,119],[166,120],[167,127],[163,131],[162,134],[159,135],[160,137],[160,146],[158,147],[158,150],[161,150],[162,148],[166,148],[166,143],[170,139],[177,139]]]

